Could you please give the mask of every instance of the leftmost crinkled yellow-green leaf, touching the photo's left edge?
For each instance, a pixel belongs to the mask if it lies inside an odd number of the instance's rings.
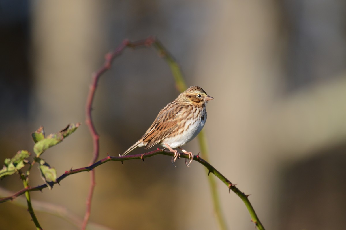
[[[4,160],[3,168],[0,170],[0,178],[18,172],[18,170],[24,167],[24,165],[27,163],[25,158],[28,158],[29,156],[30,153],[27,150],[21,150],[18,151],[17,154],[11,159],[6,158]]]

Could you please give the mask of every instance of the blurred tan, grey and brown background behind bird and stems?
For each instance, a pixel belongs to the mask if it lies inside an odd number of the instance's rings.
[[[32,152],[30,133],[40,125],[50,134],[82,122],[43,158],[58,175],[88,165],[91,74],[123,39],[155,35],[187,84],[215,98],[204,128],[210,163],[252,194],[264,227],[345,226],[345,1],[0,0],[0,34],[1,162]],[[101,77],[93,103],[100,158],[134,144],[178,94],[155,49],[127,49]],[[197,140],[184,148],[199,152]],[[155,156],[98,167],[92,229],[218,229],[204,167],[176,166]],[[0,187],[18,191],[17,177]],[[243,202],[216,181],[229,229],[254,229]],[[42,183],[33,168],[30,185]],[[82,218],[89,183],[89,174],[79,173],[31,197]],[[79,229],[36,215],[44,229]],[[0,204],[0,229],[34,229],[30,219],[16,202]]]

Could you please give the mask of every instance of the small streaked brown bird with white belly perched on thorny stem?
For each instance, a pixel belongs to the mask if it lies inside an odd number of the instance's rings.
[[[180,154],[174,148],[179,148],[185,154],[189,154],[190,165],[193,154],[181,148],[202,130],[207,120],[207,102],[213,100],[211,96],[198,86],[191,86],[182,92],[174,101],[167,104],[157,115],[155,121],[133,146],[121,156],[125,156],[137,147],[145,146],[148,149],[156,144],[168,148],[174,152],[172,164]]]

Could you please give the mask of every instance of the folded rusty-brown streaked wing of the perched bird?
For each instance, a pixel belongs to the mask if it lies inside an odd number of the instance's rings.
[[[180,116],[178,115],[182,109],[172,102],[158,113],[155,121],[143,136],[143,143],[147,142],[145,149],[161,142],[179,126]]]

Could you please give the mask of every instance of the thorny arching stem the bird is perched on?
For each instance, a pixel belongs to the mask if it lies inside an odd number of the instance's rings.
[[[56,182],[48,182],[50,186],[53,187],[54,184],[60,183],[65,177],[75,174],[75,173],[80,173],[80,172],[89,172],[91,170],[93,170],[95,167],[102,165],[108,161],[121,161],[124,162],[125,160],[133,160],[133,159],[142,159],[144,160],[145,158],[148,157],[152,157],[155,155],[166,155],[166,156],[174,156],[174,152],[170,152],[170,151],[166,151],[166,150],[160,150],[157,149],[155,151],[151,151],[149,153],[144,153],[144,154],[136,154],[136,155],[127,155],[127,156],[107,156],[106,158],[103,158],[101,160],[99,160],[98,162],[87,166],[87,167],[83,167],[83,168],[78,168],[78,169],[71,169],[69,171],[65,171],[65,173],[63,175],[61,175],[60,177],[58,177],[56,179]],[[182,158],[189,158],[188,154],[185,153],[180,153]],[[199,155],[194,156],[193,160],[199,162],[200,164],[204,165],[209,173],[213,173],[216,177],[218,177],[222,182],[224,182],[224,184],[226,184],[226,186],[228,187],[229,191],[232,190],[234,193],[236,193],[240,199],[243,200],[243,202],[245,203],[246,208],[248,209],[252,221],[255,223],[256,227],[258,227],[258,229],[260,230],[264,230],[264,227],[262,226],[261,221],[258,219],[255,210],[253,209],[253,206],[251,205],[250,201],[248,200],[248,195],[245,195],[242,191],[240,191],[234,184],[232,184],[224,175],[222,175],[219,171],[216,170],[216,168],[214,168],[212,165],[210,165],[208,162],[206,162],[206,160],[202,159]],[[26,191],[42,191],[44,188],[47,187],[47,184],[42,184],[36,187],[27,187],[24,188],[20,191],[18,191],[17,193],[11,195],[11,196],[7,196],[7,197],[3,197],[0,198],[0,203],[9,201],[9,200],[13,200],[16,197],[24,194]]]

